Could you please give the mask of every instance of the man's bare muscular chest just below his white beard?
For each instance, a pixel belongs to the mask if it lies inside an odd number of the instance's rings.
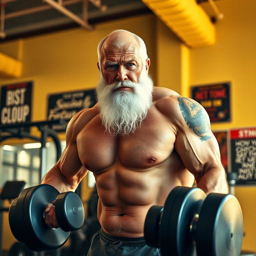
[[[175,134],[164,116],[151,114],[134,133],[111,136],[99,116],[92,119],[77,137],[82,164],[99,172],[120,163],[126,168],[145,169],[163,162],[174,148]]]

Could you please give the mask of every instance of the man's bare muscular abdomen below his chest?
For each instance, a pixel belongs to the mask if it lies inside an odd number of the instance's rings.
[[[164,163],[146,170],[130,170],[114,164],[104,172],[94,173],[100,198],[98,219],[106,233],[143,237],[149,208],[163,206],[175,186],[192,186],[194,178],[185,168],[170,171],[167,167],[168,163]]]

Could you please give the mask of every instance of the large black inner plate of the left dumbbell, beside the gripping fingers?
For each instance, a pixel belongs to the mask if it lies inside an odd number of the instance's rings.
[[[30,188],[24,198],[23,218],[29,237],[25,244],[31,250],[54,250],[68,240],[69,232],[61,228],[49,228],[44,221],[46,204],[53,202],[58,194],[56,188],[41,184]]]

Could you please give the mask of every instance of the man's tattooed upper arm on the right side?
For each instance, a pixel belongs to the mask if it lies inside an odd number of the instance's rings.
[[[176,135],[175,148],[186,168],[202,176],[206,166],[221,165],[216,138],[210,130],[210,120],[204,108],[196,101],[179,97],[182,115]]]

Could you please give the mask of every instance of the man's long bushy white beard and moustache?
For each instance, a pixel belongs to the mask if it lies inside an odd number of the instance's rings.
[[[114,92],[123,86],[132,88],[133,92]],[[106,131],[112,135],[127,135],[139,128],[152,105],[152,91],[153,81],[145,71],[142,72],[138,84],[124,80],[108,85],[100,75],[96,92],[100,118]]]

